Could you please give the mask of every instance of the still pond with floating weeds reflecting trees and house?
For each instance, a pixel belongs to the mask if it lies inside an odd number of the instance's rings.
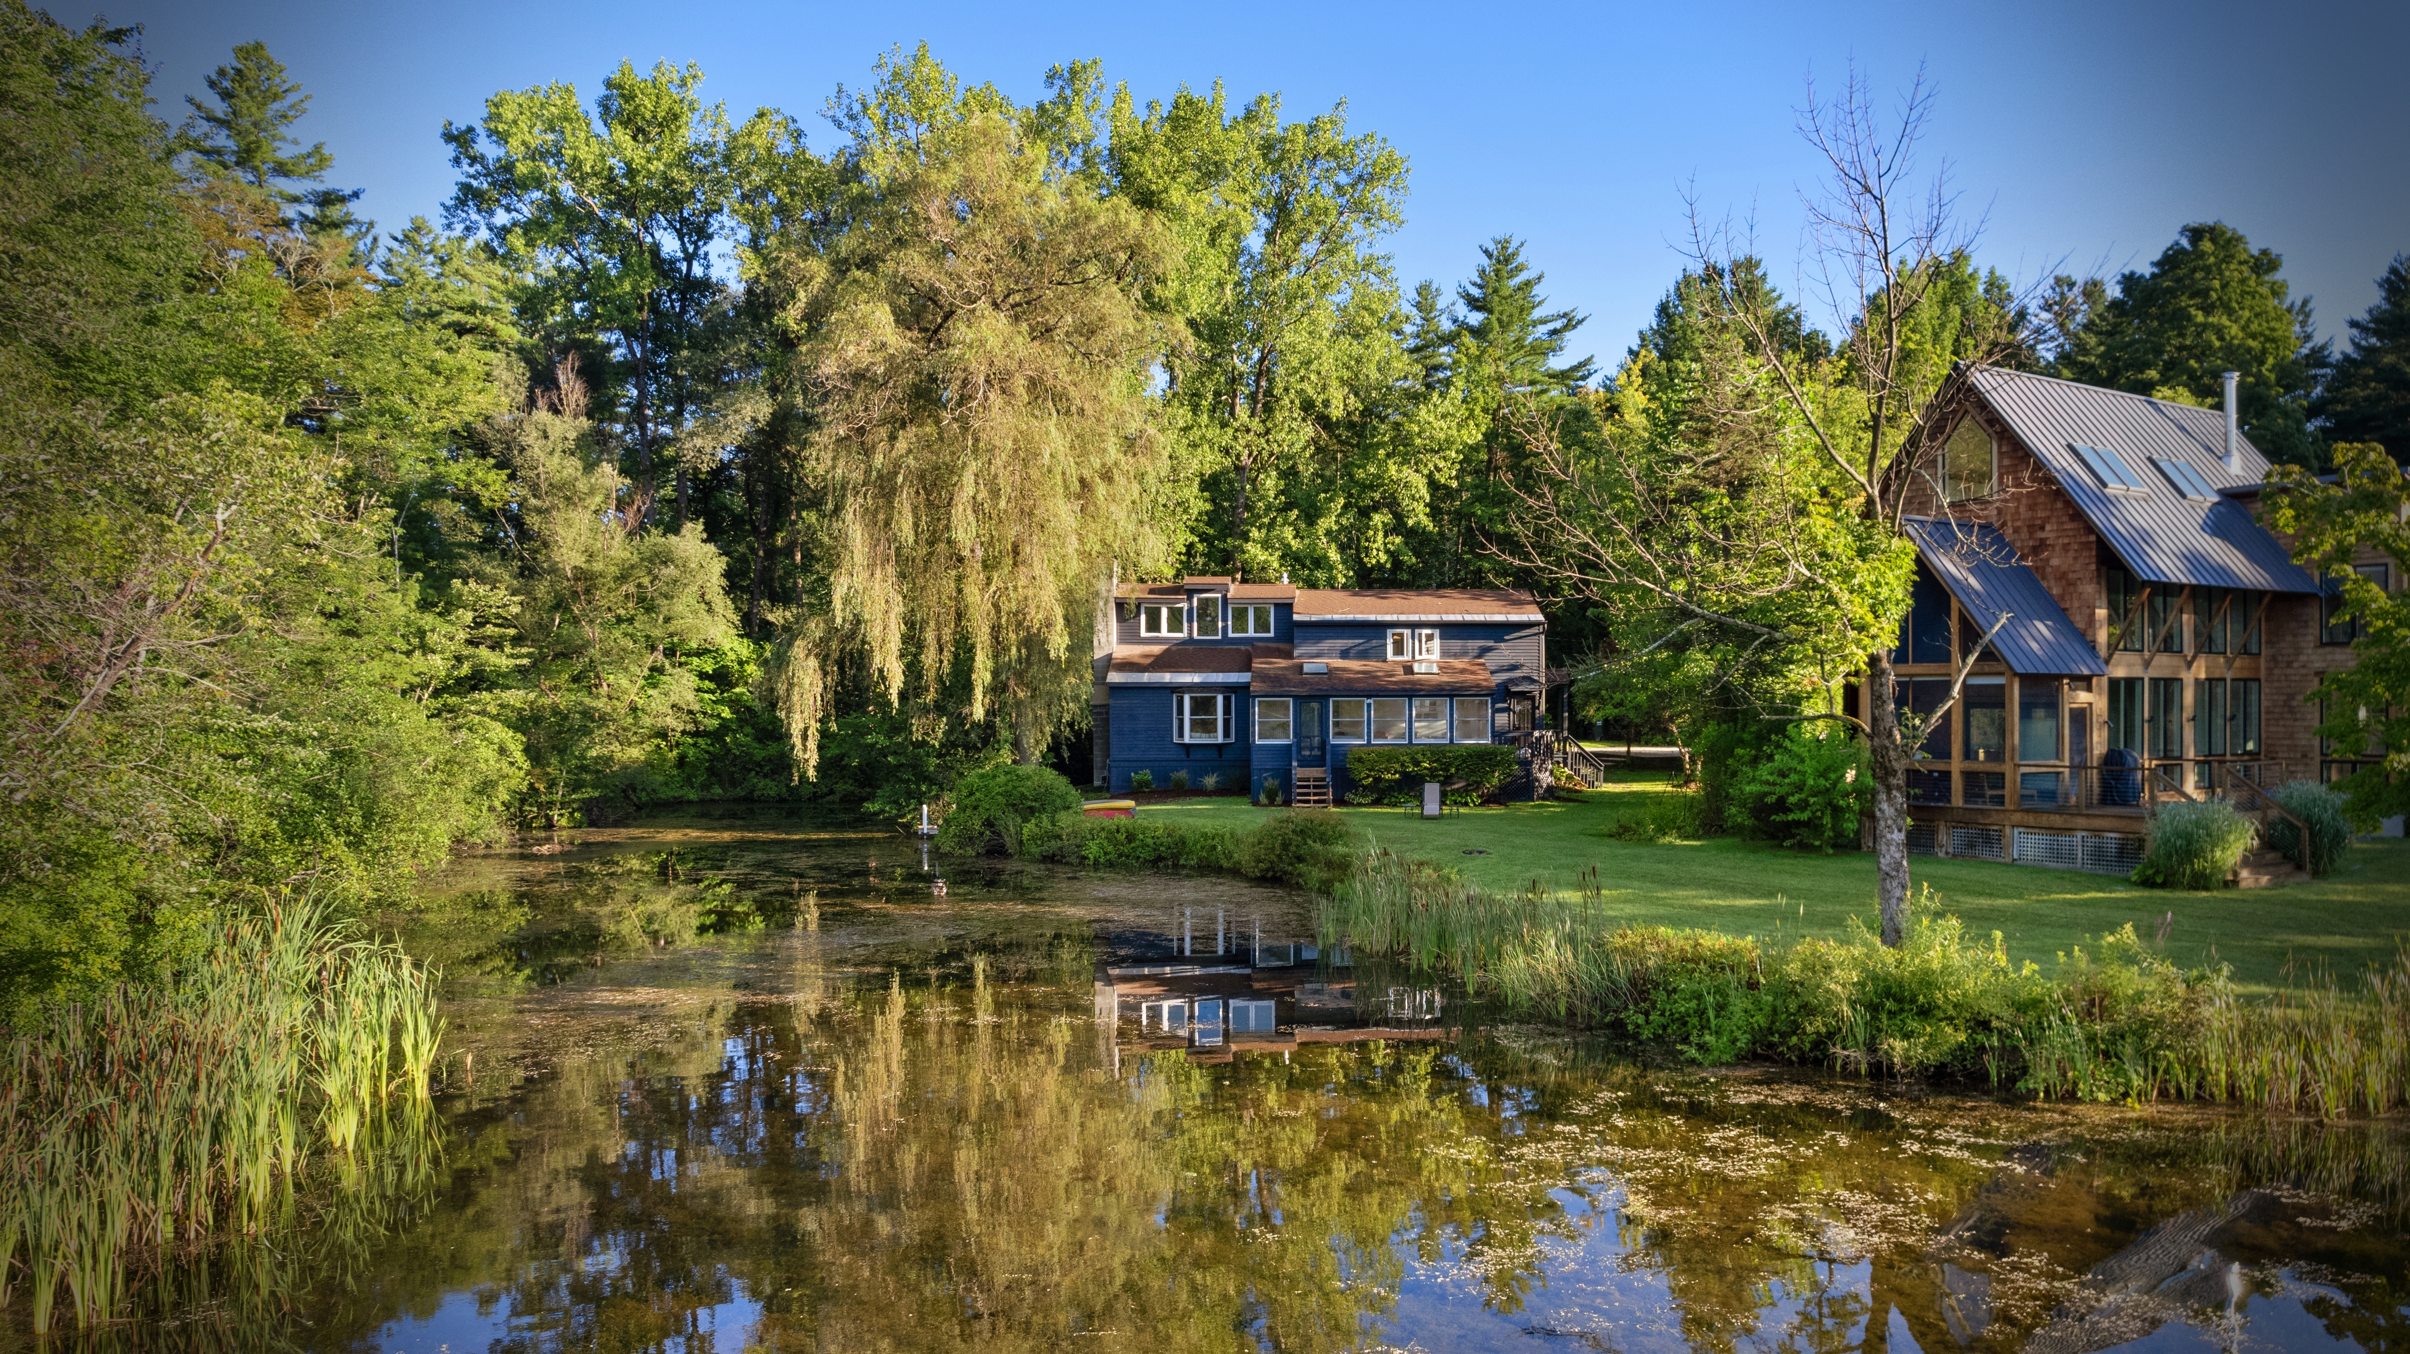
[[[463,863],[325,1352],[2403,1349],[2405,1132],[1646,1067],[1224,877],[721,810]],[[942,891],[940,891],[942,884]],[[718,928],[718,935],[694,935]],[[241,1325],[241,1323],[236,1323]]]

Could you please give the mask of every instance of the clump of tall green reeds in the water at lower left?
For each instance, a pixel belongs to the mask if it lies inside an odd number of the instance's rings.
[[[0,1308],[118,1313],[133,1277],[294,1221],[431,1132],[434,973],[321,903],[227,923],[159,985],[0,1029]]]

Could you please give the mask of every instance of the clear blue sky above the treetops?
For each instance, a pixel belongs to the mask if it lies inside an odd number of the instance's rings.
[[[53,2],[67,19],[82,10]],[[1979,255],[2020,284],[2145,267],[2186,222],[2224,219],[2285,255],[2340,335],[2410,251],[2410,5],[530,5],[133,0],[161,111],[227,51],[265,39],[313,92],[304,128],[333,181],[398,226],[436,214],[446,118],[494,89],[590,94],[622,58],[699,63],[706,99],[817,118],[870,60],[928,41],[971,82],[1044,94],[1048,65],[1101,58],[1140,96],[1215,80],[1304,116],[1345,99],[1412,161],[1400,279],[1456,282],[1485,239],[1528,241],[1576,347],[1610,366],[1682,267],[1685,190],[1754,222],[1774,275],[1800,260],[1793,133],[1808,80],[1870,77],[1885,104],[1938,87],[1926,169],[1947,161]]]

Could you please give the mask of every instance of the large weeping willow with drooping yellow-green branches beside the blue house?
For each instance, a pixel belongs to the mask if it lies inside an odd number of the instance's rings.
[[[1147,373],[1164,328],[1140,284],[1169,239],[978,108],[923,128],[853,198],[844,229],[759,253],[786,296],[827,569],[783,638],[778,711],[815,773],[856,663],[916,732],[1003,716],[1031,761],[1084,704],[1104,581],[1162,554]],[[959,665],[966,708],[945,711]]]

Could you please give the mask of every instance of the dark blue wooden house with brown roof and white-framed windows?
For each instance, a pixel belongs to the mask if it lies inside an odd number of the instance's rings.
[[[1099,636],[1101,638],[1101,636]],[[1347,795],[1359,744],[1506,742],[1533,728],[1547,622],[1530,593],[1292,588],[1183,578],[1123,588],[1092,696],[1097,778]]]

